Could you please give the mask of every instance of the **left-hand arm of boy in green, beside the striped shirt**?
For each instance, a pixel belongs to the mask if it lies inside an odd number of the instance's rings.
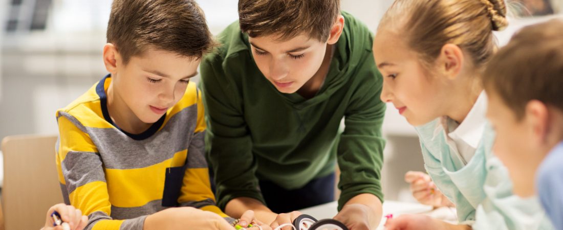
[[[200,65],[205,112],[208,114],[209,162],[215,170],[217,205],[231,217],[252,209],[263,222],[275,218],[258,191],[252,139],[236,93],[236,85],[225,77],[220,58],[205,57]],[[226,79],[226,80],[225,80]],[[265,218],[263,214],[271,214]]]

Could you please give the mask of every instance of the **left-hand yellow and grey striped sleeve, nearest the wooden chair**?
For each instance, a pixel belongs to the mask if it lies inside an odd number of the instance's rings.
[[[102,160],[86,128],[66,112],[57,113],[56,164],[66,202],[88,215],[85,229],[142,229],[145,217],[113,220]]]

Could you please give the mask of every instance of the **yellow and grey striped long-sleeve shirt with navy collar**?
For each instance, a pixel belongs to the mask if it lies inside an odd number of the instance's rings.
[[[57,111],[56,164],[67,204],[88,215],[86,229],[142,229],[147,215],[193,206],[230,219],[215,206],[204,157],[205,121],[194,83],[141,134],[111,120],[100,80]]]

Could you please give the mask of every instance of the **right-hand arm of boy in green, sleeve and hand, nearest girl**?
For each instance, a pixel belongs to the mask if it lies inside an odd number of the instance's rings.
[[[355,78],[361,79],[345,113],[345,129],[337,148],[338,166],[341,170],[338,188],[342,193],[338,199],[338,218],[347,213],[359,215],[364,210],[367,228],[375,228],[381,219],[381,167],[385,140],[381,135],[386,105],[379,98],[382,90],[382,76],[376,68],[372,53],[366,52],[365,59],[357,67]],[[373,202],[372,202],[373,201]],[[364,205],[360,208],[359,204]],[[346,208],[346,205],[352,205]],[[342,212],[342,213],[340,213]],[[347,222],[347,221],[350,222]],[[346,226],[365,226],[355,218],[346,218]],[[361,229],[361,228],[356,228]]]

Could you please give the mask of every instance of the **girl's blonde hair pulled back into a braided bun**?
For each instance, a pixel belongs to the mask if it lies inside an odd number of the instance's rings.
[[[378,30],[394,26],[426,66],[452,43],[482,69],[497,47],[493,30],[508,25],[506,11],[503,0],[396,0]]]

